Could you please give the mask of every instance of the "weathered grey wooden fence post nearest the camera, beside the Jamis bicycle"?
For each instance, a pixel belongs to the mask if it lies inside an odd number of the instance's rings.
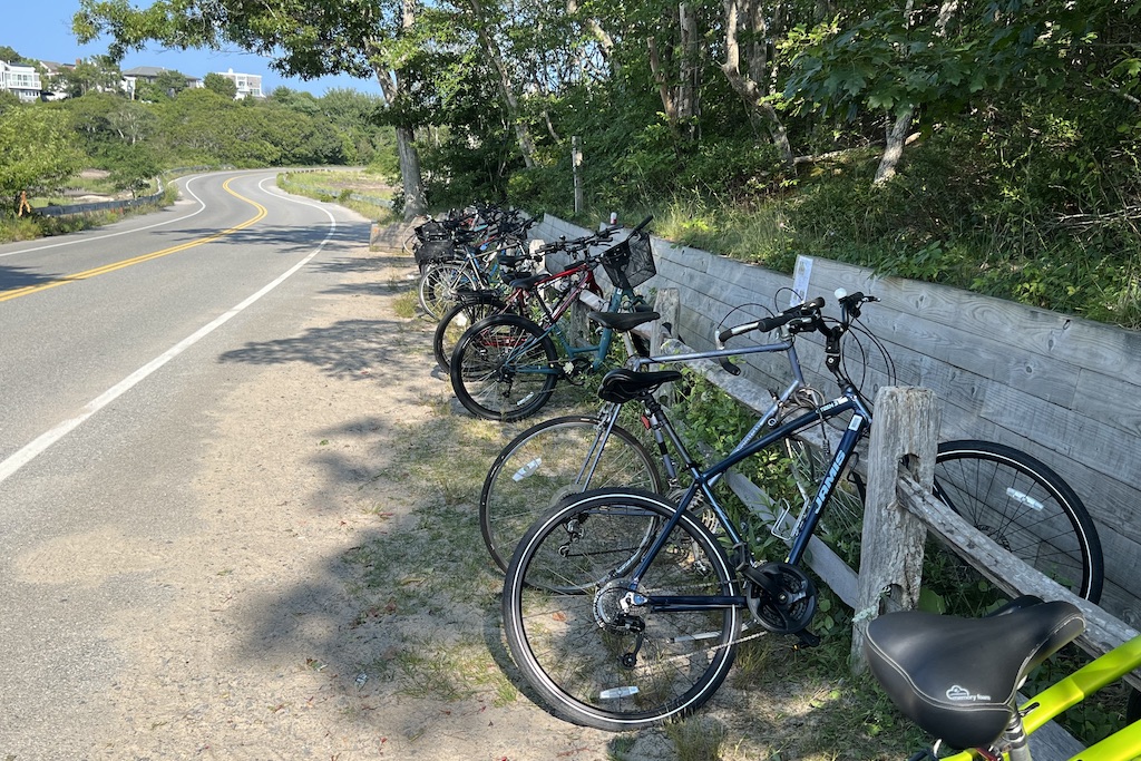
[[[919,601],[926,526],[900,507],[897,488],[903,465],[930,492],[938,436],[939,415],[931,389],[888,387],[876,394],[852,620],[853,671],[865,667],[863,646],[868,622],[885,608],[914,608]]]

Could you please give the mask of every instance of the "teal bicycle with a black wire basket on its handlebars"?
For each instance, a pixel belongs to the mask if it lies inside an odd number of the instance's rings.
[[[500,421],[534,414],[550,400],[560,380],[574,381],[606,366],[615,333],[622,335],[629,355],[647,351],[630,331],[658,318],[656,313],[634,309],[640,302],[634,286],[656,272],[649,236],[641,233],[650,219],[642,220],[622,243],[588,258],[592,267],[601,264],[615,285],[608,310],[588,315],[599,325],[597,343],[570,339],[560,322],[570,306],[566,301],[556,309],[544,307],[542,322],[495,315],[463,333],[455,345],[450,374],[452,389],[469,412]],[[621,310],[623,306],[626,311]]]

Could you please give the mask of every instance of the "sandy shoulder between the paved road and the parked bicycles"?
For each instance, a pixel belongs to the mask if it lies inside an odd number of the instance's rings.
[[[106,632],[132,641],[137,662],[104,698],[106,731],[90,758],[607,758],[613,735],[558,721],[526,698],[415,697],[386,678],[385,662],[398,655],[390,648],[407,638],[390,639],[381,622],[361,625],[361,570],[346,557],[406,525],[421,487],[378,483],[377,473],[386,452],[406,445],[402,429],[429,421],[451,391],[431,377],[424,321],[393,311],[411,288],[412,261],[366,246],[354,256],[362,266],[345,268],[343,296],[323,300],[306,331],[382,323],[390,334],[370,340],[399,366],[275,363],[233,392],[194,484],[203,504],[226,507],[201,516],[193,541],[169,548],[164,568],[178,569],[170,605]],[[370,375],[377,382],[359,382]],[[304,412],[298,399],[309,400]],[[323,445],[316,456],[314,442]],[[92,551],[107,539],[89,537]],[[489,625],[486,615],[424,615],[420,624],[426,637]]]

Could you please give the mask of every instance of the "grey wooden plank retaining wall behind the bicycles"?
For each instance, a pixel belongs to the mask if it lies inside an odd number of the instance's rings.
[[[553,240],[588,230],[547,216],[532,234]],[[788,306],[793,278],[755,265],[653,240],[658,274],[644,289],[677,289],[674,334],[697,350],[713,348],[723,325]],[[881,299],[864,309],[875,346],[866,361],[845,350],[849,373],[872,396],[888,386],[930,388],[941,439],[1008,444],[1044,461],[1085,502],[1106,561],[1102,607],[1141,625],[1141,334],[1066,315],[901,278],[876,278],[859,267],[815,259],[809,296],[864,291]],[[798,342],[811,384],[831,390],[818,339]],[[889,370],[893,370],[891,373]],[[783,387],[780,356],[753,355],[744,379]],[[739,398],[739,397],[738,397]],[[768,395],[763,394],[763,410]],[[755,400],[742,399],[754,408]]]

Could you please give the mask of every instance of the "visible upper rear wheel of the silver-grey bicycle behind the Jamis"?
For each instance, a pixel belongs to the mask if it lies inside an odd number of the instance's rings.
[[[654,458],[617,424],[592,472],[585,472],[588,459],[596,459],[601,422],[596,415],[555,418],[532,426],[500,451],[479,494],[479,529],[501,570],[507,570],[527,528],[568,494],[601,486],[665,491]]]

